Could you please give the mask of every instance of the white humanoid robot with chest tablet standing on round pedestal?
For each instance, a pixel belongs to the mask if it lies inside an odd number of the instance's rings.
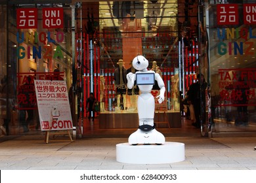
[[[154,81],[158,82],[160,95],[158,102],[164,101],[165,85],[161,76],[154,71],[148,71],[148,60],[144,56],[133,59],[133,67],[138,71],[127,74],[127,88],[133,88],[135,80],[140,89],[138,97],[139,129],[129,137],[129,144],[164,144],[165,137],[154,127],[155,99],[151,94]]]

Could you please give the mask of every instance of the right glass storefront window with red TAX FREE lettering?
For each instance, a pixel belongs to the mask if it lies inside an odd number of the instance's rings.
[[[214,131],[255,131],[255,3],[207,8]]]

